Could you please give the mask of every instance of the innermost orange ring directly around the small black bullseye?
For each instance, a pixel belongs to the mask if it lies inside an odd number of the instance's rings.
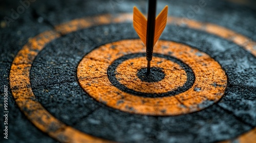
[[[178,87],[182,87],[187,80],[186,72],[180,65],[167,59],[154,56],[151,61],[151,66],[163,69],[165,77],[158,82],[141,81],[137,77],[137,72],[142,68],[146,68],[146,66],[147,61],[145,57],[126,60],[117,67],[116,77],[121,84],[129,89],[151,94],[173,91]]]

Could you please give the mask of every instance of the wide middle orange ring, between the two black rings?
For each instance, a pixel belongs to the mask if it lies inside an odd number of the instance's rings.
[[[113,46],[116,48],[111,48]],[[77,68],[77,77],[81,87],[94,99],[112,108],[154,116],[181,115],[198,111],[205,108],[200,104],[205,101],[217,102],[224,95],[227,76],[218,62],[197,49],[184,44],[161,40],[154,47],[155,53],[168,55],[169,51],[172,51],[170,55],[187,64],[196,77],[193,86],[178,95],[159,98],[135,96],[114,87],[106,73],[110,64],[125,53],[138,53],[144,50],[145,47],[139,39],[121,40],[94,49],[84,56]],[[129,83],[139,86],[138,82]],[[159,84],[161,83],[155,83],[161,88]],[[200,91],[195,91],[196,88]],[[146,90],[141,92],[143,91]]]

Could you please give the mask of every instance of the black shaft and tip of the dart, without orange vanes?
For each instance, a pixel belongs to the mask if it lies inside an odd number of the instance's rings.
[[[146,60],[147,73],[150,73],[150,61],[153,56],[155,23],[156,23],[156,0],[148,0],[147,30],[146,30]]]

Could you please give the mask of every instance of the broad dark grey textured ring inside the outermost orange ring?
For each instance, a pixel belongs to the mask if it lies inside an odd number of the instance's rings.
[[[131,31],[123,32],[120,37],[117,32],[123,27],[130,28]],[[237,106],[236,102],[226,102],[233,99],[225,96],[217,105],[199,112],[177,117],[147,117],[112,109],[94,101],[79,87],[75,73],[76,66],[83,55],[98,46],[94,42],[85,42],[82,39],[89,36],[101,39],[97,32],[92,34],[88,31],[109,32],[102,38],[102,43],[98,42],[100,45],[120,39],[136,38],[136,33],[132,31],[132,28],[131,23],[97,26],[69,34],[48,44],[37,55],[31,69],[32,88],[39,102],[57,119],[74,128],[94,136],[123,142],[143,142],[145,138],[154,142],[172,142],[169,140],[174,140],[174,142],[214,142],[236,137],[255,126],[255,97],[251,94],[256,91],[254,89],[252,91],[244,90],[247,87],[245,84],[240,84],[240,89],[230,86],[238,81],[246,83],[245,77],[234,76],[239,74],[236,67],[240,63],[236,63],[236,61],[239,61],[240,58],[249,59],[247,61],[249,68],[240,67],[240,70],[247,73],[244,75],[248,77],[248,80],[253,78],[255,75],[253,67],[256,66],[255,56],[232,42],[188,28],[180,28],[179,36],[170,37],[170,31],[175,28],[173,25],[167,26],[161,39],[182,42],[212,55],[227,73],[229,86],[226,94],[230,94],[230,91],[242,93],[238,96],[242,100],[240,104],[243,103],[243,105]],[[80,37],[75,35],[80,35]],[[68,39],[80,42],[70,43],[67,42]],[[216,43],[221,43],[221,46],[216,46]],[[229,61],[232,63],[228,63]],[[240,76],[242,75],[240,74]],[[253,84],[252,86],[255,86],[255,83]],[[250,102],[246,102],[241,95],[250,96]],[[67,106],[70,104],[74,106]],[[224,106],[227,104],[228,107]],[[231,107],[235,107],[237,111]],[[238,112],[240,114],[237,115]],[[144,119],[145,117],[147,120]],[[152,123],[147,124],[147,122]],[[136,127],[131,128],[131,124],[134,123],[136,123]],[[154,132],[144,129],[154,130]],[[129,130],[133,130],[131,134],[127,134]]]

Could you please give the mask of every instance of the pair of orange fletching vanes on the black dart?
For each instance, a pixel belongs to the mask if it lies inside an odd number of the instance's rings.
[[[161,36],[166,26],[167,15],[168,15],[168,6],[165,6],[164,9],[159,13],[159,15],[156,18],[154,45],[158,41],[159,37]],[[133,8],[133,26],[138,36],[144,43],[144,45],[146,45],[147,20],[145,16],[138,10],[137,7]]]

